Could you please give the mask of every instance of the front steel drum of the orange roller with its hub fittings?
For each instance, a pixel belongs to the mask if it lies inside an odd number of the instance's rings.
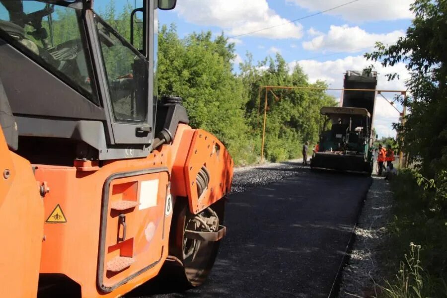
[[[220,241],[201,241],[185,236],[186,229],[204,230],[205,222],[218,228],[224,220],[224,199],[199,214],[199,218],[189,212],[184,201],[176,202],[169,236],[169,255],[178,259],[177,268],[169,270],[178,286],[185,289],[202,285],[211,272],[219,251]]]

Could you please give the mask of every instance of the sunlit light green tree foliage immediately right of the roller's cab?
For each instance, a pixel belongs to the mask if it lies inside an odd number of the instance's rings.
[[[243,85],[232,73],[234,45],[223,35],[192,33],[180,39],[176,28],[158,33],[158,94],[184,98],[191,125],[216,135],[237,164],[255,161],[254,138],[245,121]]]

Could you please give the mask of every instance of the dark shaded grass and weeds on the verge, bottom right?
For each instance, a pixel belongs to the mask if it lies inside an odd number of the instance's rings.
[[[394,218],[384,256],[390,274],[379,286],[378,297],[447,297],[447,179],[443,175],[428,180],[415,170],[402,170],[392,181]],[[405,254],[408,243],[410,251]]]

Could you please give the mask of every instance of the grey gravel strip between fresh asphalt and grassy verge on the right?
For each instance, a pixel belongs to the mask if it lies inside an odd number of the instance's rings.
[[[355,230],[349,261],[342,272],[338,297],[376,297],[374,285],[383,278],[380,268],[386,240],[386,224],[392,217],[392,192],[389,183],[373,176],[365,205]]]

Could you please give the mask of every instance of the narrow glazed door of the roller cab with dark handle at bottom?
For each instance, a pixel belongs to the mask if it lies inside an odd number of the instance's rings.
[[[145,11],[153,6],[152,1],[148,3]],[[153,140],[153,74],[149,72],[153,62],[128,42],[129,37],[121,36],[94,11],[86,11],[86,20],[98,89],[108,111],[110,141],[125,148],[149,147]],[[125,158],[133,157],[131,155],[126,153]]]

